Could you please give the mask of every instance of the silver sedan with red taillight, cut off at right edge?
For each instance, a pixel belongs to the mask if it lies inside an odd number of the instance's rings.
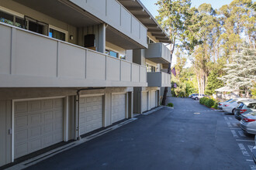
[[[240,128],[247,134],[256,134],[256,111],[241,115]]]

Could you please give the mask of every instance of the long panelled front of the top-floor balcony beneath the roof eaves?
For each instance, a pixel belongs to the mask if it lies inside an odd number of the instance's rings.
[[[147,28],[116,0],[70,0],[147,48]]]

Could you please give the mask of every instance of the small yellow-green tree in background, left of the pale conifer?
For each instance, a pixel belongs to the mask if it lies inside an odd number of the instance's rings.
[[[209,73],[205,91],[207,95],[212,95],[213,93],[215,93],[216,89],[223,87],[223,82],[217,78],[219,76],[220,74],[217,70],[213,70],[211,73]]]

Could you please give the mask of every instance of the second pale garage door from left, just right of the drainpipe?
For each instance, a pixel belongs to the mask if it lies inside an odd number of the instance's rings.
[[[81,97],[79,103],[80,133],[102,128],[103,109],[102,96]]]

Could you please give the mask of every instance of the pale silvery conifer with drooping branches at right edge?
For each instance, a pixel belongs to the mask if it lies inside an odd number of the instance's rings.
[[[223,70],[227,75],[220,77],[228,87],[244,90],[249,97],[249,90],[256,80],[256,50],[243,45],[239,53],[233,53],[233,62],[226,65]]]

